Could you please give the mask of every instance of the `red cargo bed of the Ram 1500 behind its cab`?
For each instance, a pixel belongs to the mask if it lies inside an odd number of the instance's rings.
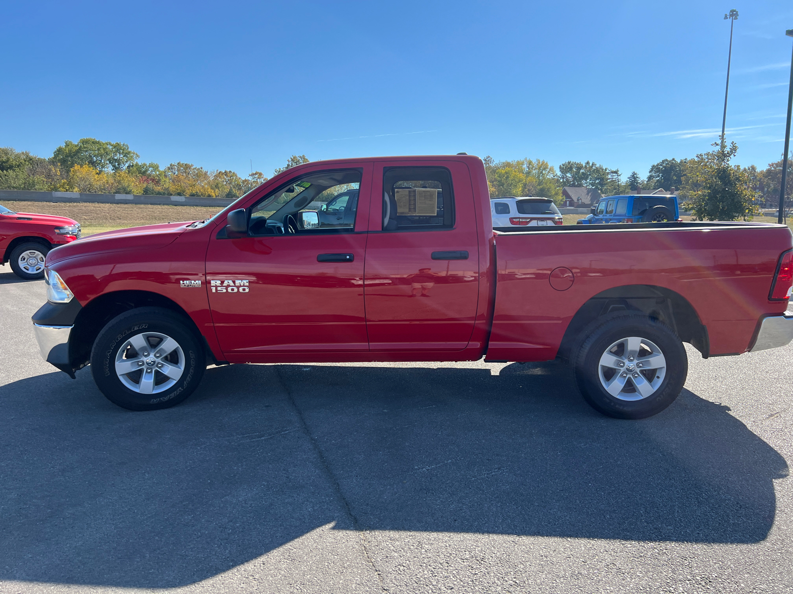
[[[655,301],[659,314],[688,304],[697,318],[691,324],[705,329],[704,340],[691,334],[688,341],[703,356],[740,354],[751,346],[758,319],[787,307],[787,301],[758,301],[757,295],[768,294],[777,259],[790,246],[791,231],[769,223],[570,225],[496,233],[488,360],[553,359],[573,317],[591,299],[603,307],[638,303],[649,310]],[[558,290],[551,275],[565,276],[562,268],[572,272],[573,283]],[[676,330],[686,340],[688,329]]]

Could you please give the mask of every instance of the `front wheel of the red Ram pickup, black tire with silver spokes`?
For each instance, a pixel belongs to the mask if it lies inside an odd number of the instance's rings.
[[[170,337],[177,343],[181,352],[177,349],[170,354],[163,353],[162,358],[155,359],[155,355],[159,357],[157,345],[162,344],[162,342],[158,343],[158,340],[164,339],[144,336],[147,333]],[[130,339],[139,341],[136,338],[139,336],[143,336],[141,340],[147,341],[151,346],[151,353],[147,356],[138,353],[128,344]],[[151,382],[153,393],[143,394],[130,389],[122,382],[116,368],[117,356],[122,347],[125,348],[125,354],[121,355],[124,357],[121,363],[129,361],[132,365],[138,360],[144,360],[140,374],[136,375],[133,371],[124,375],[125,382],[128,385],[140,386],[144,381],[144,370],[151,369],[145,372],[151,373],[151,376],[147,377],[153,379]],[[149,363],[149,360],[153,363]],[[157,369],[163,365],[166,369],[175,368],[177,371],[181,365],[182,374],[175,380],[168,378]],[[117,315],[99,333],[91,350],[91,373],[94,375],[94,382],[110,402],[128,410],[167,409],[178,405],[201,383],[204,370],[204,349],[199,338],[190,329],[189,322],[173,311],[161,307],[138,307]],[[174,383],[168,386],[171,381]],[[156,385],[158,382],[159,385]]]

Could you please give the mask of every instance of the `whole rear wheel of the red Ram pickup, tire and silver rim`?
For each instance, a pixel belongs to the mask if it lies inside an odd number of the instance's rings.
[[[644,314],[596,320],[581,333],[571,363],[581,395],[618,419],[643,419],[675,401],[688,375],[680,338]]]

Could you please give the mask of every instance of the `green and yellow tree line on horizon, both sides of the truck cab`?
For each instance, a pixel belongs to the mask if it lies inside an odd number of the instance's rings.
[[[591,161],[567,161],[558,171],[542,159],[496,162],[487,156],[483,161],[491,196],[544,196],[560,204],[565,186],[593,188],[603,196],[640,188],[675,188],[684,208],[694,211],[697,218],[722,220],[746,219],[760,207],[779,204],[781,160],[765,169],[731,165],[737,145],[719,142],[713,146],[693,158],[662,159],[649,168],[646,177],[632,171],[624,181],[619,169]],[[0,148],[0,189],[237,198],[267,179],[260,171],[241,177],[228,169],[208,170],[186,162],[161,167],[139,158],[128,144],[91,138],[76,143],[67,140],[49,158]],[[305,162],[305,154],[292,155],[274,175]],[[787,185],[786,204],[793,197],[791,185]]]

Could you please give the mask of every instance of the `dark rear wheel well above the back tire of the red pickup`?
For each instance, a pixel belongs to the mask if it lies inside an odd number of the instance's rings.
[[[615,311],[638,311],[649,318],[661,320],[675,331],[681,341],[688,342],[701,352],[703,359],[707,359],[710,354],[707,327],[699,321],[688,299],[665,287],[630,284],[598,293],[579,308],[561,339],[559,356],[569,358],[570,348],[580,331],[596,318]]]

